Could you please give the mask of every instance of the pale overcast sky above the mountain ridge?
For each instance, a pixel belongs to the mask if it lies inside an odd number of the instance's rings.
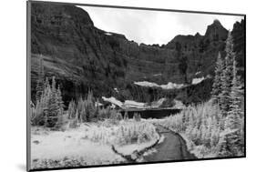
[[[214,19],[232,29],[243,16],[202,15],[108,7],[78,6],[87,11],[94,25],[107,32],[126,35],[138,44],[167,44],[175,35],[204,35]]]

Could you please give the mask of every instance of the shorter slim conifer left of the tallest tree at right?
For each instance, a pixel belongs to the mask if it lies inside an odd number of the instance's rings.
[[[212,85],[211,96],[214,104],[220,104],[220,93],[221,93],[221,75],[223,73],[224,64],[221,59],[220,52],[217,57],[214,82]]]

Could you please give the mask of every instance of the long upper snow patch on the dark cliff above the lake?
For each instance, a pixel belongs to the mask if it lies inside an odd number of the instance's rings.
[[[156,83],[151,83],[148,81],[134,82],[134,84],[138,85],[138,86],[161,87],[162,89],[179,89],[179,88],[182,88],[185,86],[183,84],[176,84],[176,83],[172,83],[172,82],[169,82],[167,85],[158,85]]]

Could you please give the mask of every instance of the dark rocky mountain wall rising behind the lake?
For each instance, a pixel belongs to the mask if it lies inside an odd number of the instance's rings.
[[[56,76],[66,102],[85,96],[88,89],[97,97],[116,96],[120,100],[145,102],[162,96],[187,103],[205,100],[210,97],[218,52],[225,56],[228,35],[215,20],[205,35],[177,35],[164,46],[138,45],[125,35],[98,29],[87,12],[77,6],[44,3],[32,3],[31,26],[32,99],[41,57],[46,76]],[[243,20],[234,24],[232,35],[243,76]],[[208,79],[190,85],[193,78],[202,76]],[[134,82],[138,81],[187,86],[163,90],[137,86]]]

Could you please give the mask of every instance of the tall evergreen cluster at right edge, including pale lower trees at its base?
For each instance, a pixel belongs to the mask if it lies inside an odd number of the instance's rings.
[[[244,114],[241,110],[243,90],[240,77],[237,75],[236,55],[230,33],[225,52],[224,60],[221,59],[220,54],[218,56],[211,92],[213,103],[220,106],[220,115],[225,121],[220,128],[222,130],[220,157],[241,154],[244,147]]]

